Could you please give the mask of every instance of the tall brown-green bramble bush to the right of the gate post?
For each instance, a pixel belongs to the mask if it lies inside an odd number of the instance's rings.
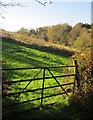
[[[70,105],[74,107],[84,119],[93,118],[93,76],[91,50],[86,54],[74,56],[79,65],[80,89],[70,97]]]

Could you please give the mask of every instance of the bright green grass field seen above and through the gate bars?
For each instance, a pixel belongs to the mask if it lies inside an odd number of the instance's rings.
[[[18,42],[16,40],[10,39],[10,38],[3,38],[2,42],[2,59],[3,59],[3,68],[31,68],[31,67],[46,67],[46,66],[62,66],[62,65],[71,65],[71,53],[70,51],[57,51],[53,49],[48,49],[44,46],[31,44],[27,45],[21,42]],[[17,81],[17,80],[26,80],[26,79],[33,79],[34,76],[40,71],[40,69],[33,69],[33,70],[16,70],[16,71],[7,71],[4,72],[4,77],[8,81]],[[63,75],[63,74],[69,74],[70,72],[73,72],[72,69],[51,69],[51,72],[53,75]],[[51,74],[46,70],[45,75],[47,77],[51,76]],[[43,77],[43,70],[38,74],[38,78]],[[68,83],[73,81],[73,77],[69,78],[61,78],[57,79],[60,84],[62,83]],[[23,90],[23,88],[28,84],[29,82],[23,82],[23,83],[16,83],[9,85],[9,92],[20,92]],[[58,85],[57,82],[54,79],[45,80],[45,87]],[[42,87],[42,80],[41,81],[33,81],[29,84],[29,86],[26,88],[26,90],[30,89],[36,89]],[[73,86],[70,86],[73,87]],[[66,88],[66,87],[64,87]],[[61,89],[53,88],[48,89],[44,91],[44,96],[60,93]],[[7,97],[7,103],[6,100],[4,100],[4,104],[10,104],[13,102],[16,96]],[[19,95],[16,102],[23,102],[27,101],[33,98],[41,97],[41,91],[36,91],[34,93],[25,93]],[[22,105],[19,107],[19,109],[29,109],[31,107],[40,106],[40,100],[27,103],[25,105]],[[57,104],[68,104],[68,98],[66,95],[61,95],[57,97],[51,97],[46,98],[43,101],[43,104],[50,104],[50,103],[57,103]],[[14,109],[15,111],[16,109]],[[11,111],[10,109],[8,110]],[[13,111],[13,109],[12,109]]]

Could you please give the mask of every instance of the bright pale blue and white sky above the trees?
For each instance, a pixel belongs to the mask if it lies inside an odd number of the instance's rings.
[[[7,0],[7,2],[9,1],[11,0]],[[52,0],[54,3],[47,4],[47,6],[42,6],[34,0],[20,1],[26,7],[5,9],[5,19],[0,18],[0,28],[17,31],[21,27],[35,29],[59,23],[68,23],[72,26],[78,22],[91,24],[91,0],[78,0],[77,2],[74,0],[69,0],[69,2],[68,0]]]

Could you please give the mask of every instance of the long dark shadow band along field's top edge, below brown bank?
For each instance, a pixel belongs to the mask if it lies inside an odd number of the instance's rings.
[[[9,45],[9,47],[14,47],[14,48],[15,48],[15,45],[18,45],[18,46],[21,45],[21,46],[36,49],[36,50],[39,50],[39,51],[42,51],[42,52],[47,52],[47,53],[51,53],[51,54],[55,54],[55,55],[61,55],[61,56],[64,56],[64,57],[70,57],[74,54],[73,51],[69,51],[69,50],[66,50],[66,49],[58,49],[58,48],[55,48],[55,47],[52,47],[52,46],[40,46],[40,45],[35,44],[35,43],[29,45],[29,44],[22,43],[20,41],[16,41],[15,39],[6,38],[6,37],[3,37],[2,41],[6,42],[6,45]],[[3,42],[2,42],[2,45],[3,45]],[[17,47],[16,50],[18,52],[21,52],[21,49],[19,47]]]

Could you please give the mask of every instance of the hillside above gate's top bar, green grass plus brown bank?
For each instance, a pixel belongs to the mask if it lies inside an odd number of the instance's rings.
[[[3,65],[7,64],[10,67],[17,67],[17,64],[14,61],[22,62],[23,66],[21,64],[20,67],[26,67],[29,66],[29,64],[30,66],[55,66],[68,64],[69,59],[66,59],[70,58],[75,52],[77,52],[76,50],[63,45],[45,42],[16,32],[8,32],[4,30],[2,30],[2,50]],[[25,64],[23,61],[25,61]],[[34,61],[34,63],[32,61]],[[37,61],[37,63],[35,61]]]

